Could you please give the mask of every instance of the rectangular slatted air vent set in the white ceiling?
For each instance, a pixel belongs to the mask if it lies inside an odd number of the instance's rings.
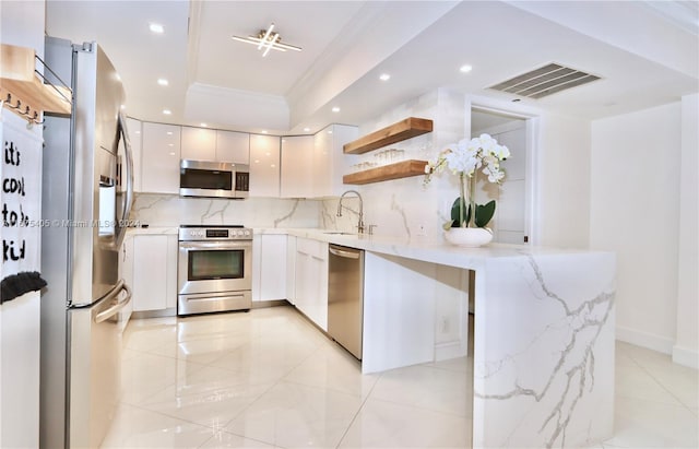
[[[552,62],[489,88],[530,98],[542,98],[599,79],[600,76]]]

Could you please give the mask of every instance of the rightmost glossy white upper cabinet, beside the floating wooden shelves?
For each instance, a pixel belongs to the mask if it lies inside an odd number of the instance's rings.
[[[358,156],[346,155],[342,145],[357,139],[357,127],[331,125],[313,137],[312,191],[313,197],[339,197],[347,190],[342,176]]]

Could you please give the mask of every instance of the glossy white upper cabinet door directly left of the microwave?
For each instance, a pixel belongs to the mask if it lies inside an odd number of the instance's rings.
[[[143,122],[141,189],[179,193],[180,127]]]

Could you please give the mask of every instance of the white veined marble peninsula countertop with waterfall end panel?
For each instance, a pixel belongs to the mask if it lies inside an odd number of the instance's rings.
[[[475,270],[474,447],[574,447],[612,436],[613,253],[498,244],[460,248],[332,229],[286,233]]]

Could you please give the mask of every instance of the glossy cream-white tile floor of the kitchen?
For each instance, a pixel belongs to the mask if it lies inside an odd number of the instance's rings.
[[[363,376],[291,307],[133,320],[105,448],[452,448],[471,440],[465,358]],[[595,448],[697,448],[697,370],[625,343],[615,435]]]

